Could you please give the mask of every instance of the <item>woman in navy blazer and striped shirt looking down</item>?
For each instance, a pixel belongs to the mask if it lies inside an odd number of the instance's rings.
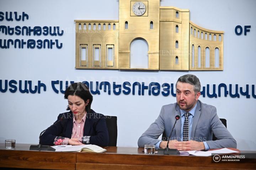
[[[59,114],[57,121],[41,136],[43,145],[108,145],[104,115],[91,109],[92,95],[83,83],[73,83],[65,91],[69,112]]]

